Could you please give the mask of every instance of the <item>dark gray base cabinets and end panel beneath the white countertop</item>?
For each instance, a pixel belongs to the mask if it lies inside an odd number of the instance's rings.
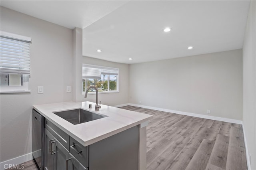
[[[44,170],[138,170],[139,127],[83,146],[46,119]]]

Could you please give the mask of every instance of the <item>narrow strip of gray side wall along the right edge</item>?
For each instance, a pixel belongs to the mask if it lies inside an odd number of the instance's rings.
[[[256,1],[250,2],[243,46],[243,123],[251,168],[256,169]]]

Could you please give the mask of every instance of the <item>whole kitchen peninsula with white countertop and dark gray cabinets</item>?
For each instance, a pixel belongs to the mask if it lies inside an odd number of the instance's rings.
[[[106,105],[101,105],[99,111],[94,111],[94,107],[89,108],[89,104],[95,105],[92,102],[64,102],[33,106],[45,118],[46,135],[50,132],[55,134],[56,131],[67,134],[68,139],[65,140],[60,135],[62,133],[56,133],[60,140],[66,141],[63,144],[60,141],[59,145],[63,145],[67,151],[66,168],[70,169],[72,164],[68,163],[71,159],[68,156],[70,152],[73,160],[84,169],[146,169],[146,125],[152,116]],[[102,118],[74,125],[56,114],[76,109],[101,115]],[[59,130],[54,131],[54,128]],[[48,143],[45,141],[44,146]],[[50,155],[55,154],[58,144],[55,145],[50,141],[45,154],[49,149]],[[75,152],[72,154],[73,151]],[[82,154],[85,154],[84,158]],[[44,159],[48,158],[44,156]]]

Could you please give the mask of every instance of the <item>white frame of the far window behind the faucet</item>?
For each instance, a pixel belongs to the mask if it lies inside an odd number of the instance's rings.
[[[100,69],[116,69],[116,70],[118,70],[118,75],[116,75],[116,79],[117,79],[116,80],[116,90],[112,90],[112,91],[109,90],[109,84],[110,84],[110,78],[109,77],[110,77],[110,75],[114,75],[114,74],[110,73],[110,74],[106,74],[106,75],[108,75],[108,91],[98,91],[98,94],[119,93],[119,75],[120,75],[120,69],[119,68],[106,67],[106,66],[101,66],[101,65],[85,64],[85,63],[82,64],[82,67],[86,67],[86,66],[94,67],[94,68],[100,68]],[[102,75],[102,73],[100,75]],[[83,87],[84,81],[83,81],[83,79],[84,78],[82,76],[82,95],[85,95],[86,90],[84,91],[84,87]],[[93,77],[91,79],[93,79]],[[96,94],[96,92],[88,93],[88,95],[94,95],[94,94]]]

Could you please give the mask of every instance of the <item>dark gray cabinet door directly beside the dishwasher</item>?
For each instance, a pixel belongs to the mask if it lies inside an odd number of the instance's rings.
[[[54,170],[54,152],[52,152],[54,137],[44,129],[44,170]]]

